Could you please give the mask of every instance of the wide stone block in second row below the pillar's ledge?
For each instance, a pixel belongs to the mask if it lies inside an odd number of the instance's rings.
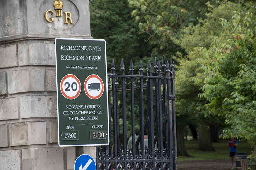
[[[8,92],[10,94],[44,91],[44,69],[24,69],[8,72]]]

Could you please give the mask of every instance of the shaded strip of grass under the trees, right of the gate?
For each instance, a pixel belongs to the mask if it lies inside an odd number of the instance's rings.
[[[192,157],[178,156],[178,162],[182,161],[196,161],[196,160],[216,160],[229,159],[229,147],[227,147],[228,140],[221,140],[213,143],[216,152],[200,151],[197,149],[197,141],[186,141],[185,146],[188,153]],[[237,152],[250,154],[251,145],[244,141],[238,141]]]

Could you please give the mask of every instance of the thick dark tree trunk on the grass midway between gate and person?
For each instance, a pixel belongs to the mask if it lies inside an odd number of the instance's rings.
[[[215,151],[211,141],[210,127],[204,123],[198,124],[198,149],[202,151]]]

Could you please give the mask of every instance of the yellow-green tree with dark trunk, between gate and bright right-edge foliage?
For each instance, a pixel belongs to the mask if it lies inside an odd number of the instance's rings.
[[[224,119],[218,114],[214,114],[214,112],[217,112],[216,110],[207,109],[206,105],[209,101],[204,98],[198,99],[198,95],[202,93],[205,79],[204,67],[201,67],[201,62],[208,61],[208,58],[213,55],[213,51],[208,50],[216,43],[213,39],[227,39],[230,35],[229,32],[222,34],[225,29],[221,26],[219,19],[224,17],[226,20],[231,20],[233,9],[240,9],[241,4],[222,2],[218,7],[209,3],[208,6],[211,11],[207,14],[207,18],[200,20],[200,23],[196,26],[186,27],[181,39],[175,40],[188,53],[186,59],[179,61],[180,68],[177,72],[176,94],[177,99],[182,101],[182,103],[177,103],[177,112],[182,111],[178,107],[186,107],[190,108],[190,111],[183,111],[183,113],[195,116],[194,121],[198,124],[198,148],[212,151],[214,150],[212,146],[212,140],[214,139],[210,135],[211,126],[213,124],[223,124]],[[193,104],[195,101],[197,103]],[[184,103],[187,104],[182,105]]]

